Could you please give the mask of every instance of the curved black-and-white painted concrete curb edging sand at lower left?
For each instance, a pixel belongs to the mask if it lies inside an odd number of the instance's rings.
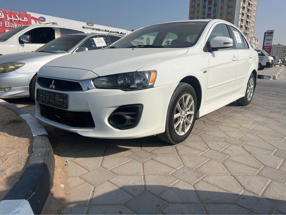
[[[0,202],[0,214],[41,214],[53,186],[55,158],[46,129],[32,115],[4,100],[0,105],[10,108],[29,125],[32,154],[19,181]]]

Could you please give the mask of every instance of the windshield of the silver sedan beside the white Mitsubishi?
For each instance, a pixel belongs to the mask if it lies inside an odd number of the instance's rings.
[[[84,39],[84,35],[67,35],[61,36],[51,42],[43,45],[41,48],[35,50],[35,52],[47,52],[47,53],[63,53],[69,51],[78,42]]]

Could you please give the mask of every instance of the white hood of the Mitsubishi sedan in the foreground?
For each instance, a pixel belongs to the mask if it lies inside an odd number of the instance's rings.
[[[166,58],[183,55],[188,48],[114,48],[74,53],[44,66],[91,70],[98,76],[133,72]],[[154,68],[156,69],[156,68]]]

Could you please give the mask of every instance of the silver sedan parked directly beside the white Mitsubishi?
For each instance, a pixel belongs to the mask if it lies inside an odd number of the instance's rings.
[[[105,48],[120,38],[104,33],[69,34],[33,52],[0,56],[0,98],[31,97],[35,101],[37,72],[44,64],[74,52]]]

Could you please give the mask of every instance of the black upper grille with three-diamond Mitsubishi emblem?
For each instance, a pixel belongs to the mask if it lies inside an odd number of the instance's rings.
[[[45,78],[45,77],[38,77],[37,82],[41,87],[52,89],[52,90],[59,90],[59,91],[82,91],[83,90],[79,82]]]

